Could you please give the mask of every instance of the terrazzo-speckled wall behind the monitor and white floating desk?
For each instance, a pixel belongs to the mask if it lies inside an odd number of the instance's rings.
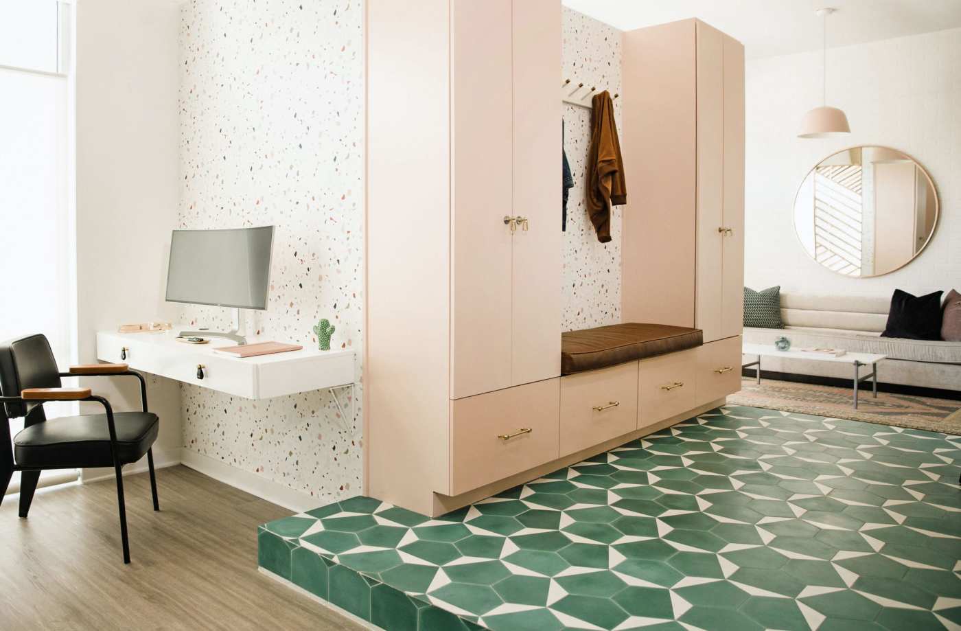
[[[248,332],[313,345],[311,326],[328,317],[332,345],[359,357],[359,0],[193,0],[182,10],[181,56],[179,226],[274,224],[269,304],[248,318]],[[222,309],[186,306],[181,316],[230,324]],[[356,391],[355,421],[339,418],[327,391],[252,401],[184,386],[184,446],[296,491],[353,495]]]

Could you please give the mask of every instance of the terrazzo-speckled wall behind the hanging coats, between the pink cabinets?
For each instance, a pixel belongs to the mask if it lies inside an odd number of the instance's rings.
[[[572,83],[621,91],[621,32],[582,13],[563,9],[564,78]],[[614,118],[621,126],[621,105],[614,101]],[[600,243],[584,205],[591,111],[564,106],[564,147],[574,174],[564,235],[564,331],[621,321],[621,213],[611,217],[611,240]],[[630,199],[630,182],[628,201]]]

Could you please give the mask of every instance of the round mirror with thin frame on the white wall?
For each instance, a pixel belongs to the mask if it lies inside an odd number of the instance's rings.
[[[804,251],[845,276],[890,273],[918,256],[938,223],[934,182],[896,149],[862,146],[825,158],[794,200]]]

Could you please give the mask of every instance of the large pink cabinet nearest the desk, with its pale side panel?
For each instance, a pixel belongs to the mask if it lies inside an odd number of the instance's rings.
[[[484,466],[556,457],[560,2],[365,8],[365,491],[427,514],[484,479],[457,418],[500,414],[515,388],[540,400],[554,380],[553,408]],[[539,441],[553,451],[521,448]]]

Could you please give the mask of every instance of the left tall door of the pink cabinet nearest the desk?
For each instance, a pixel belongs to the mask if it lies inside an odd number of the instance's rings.
[[[452,0],[451,12],[451,398],[460,398],[511,385],[511,1]],[[430,186],[433,174],[423,175]]]

